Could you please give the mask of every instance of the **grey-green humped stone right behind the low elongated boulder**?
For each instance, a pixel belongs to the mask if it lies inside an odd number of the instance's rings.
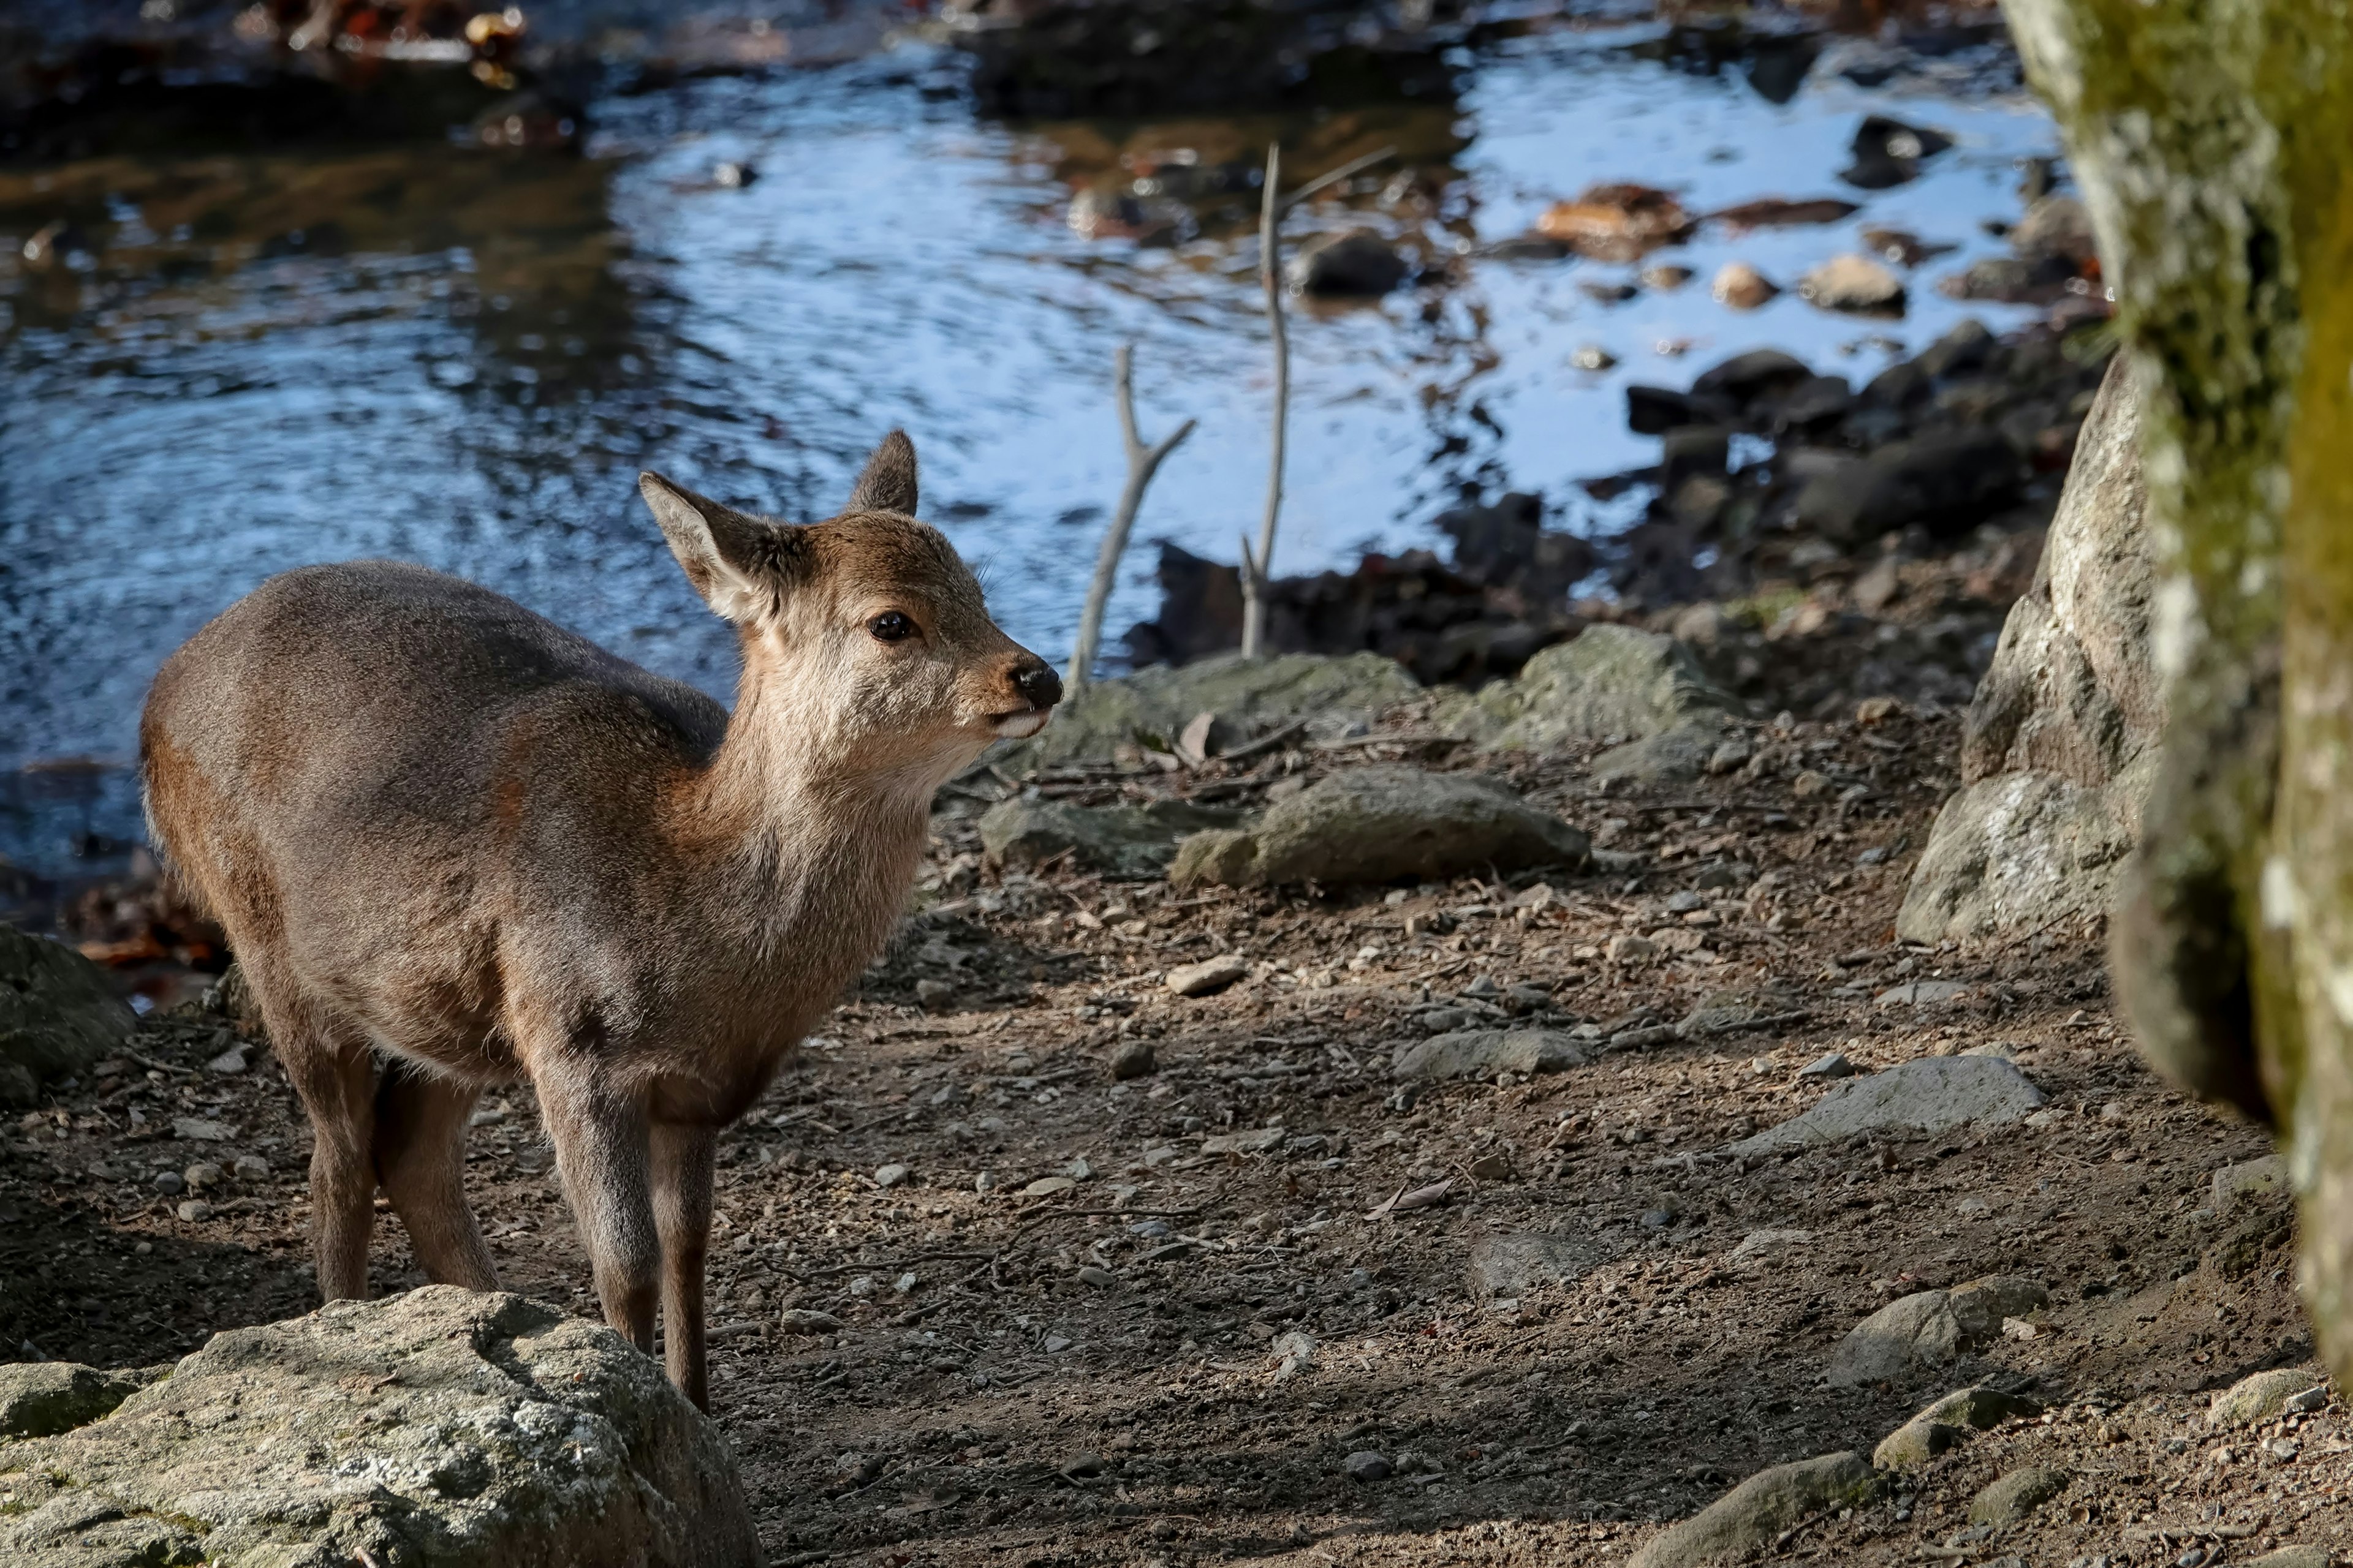
[[[1739,701],[1706,677],[1692,649],[1605,623],[1544,649],[1518,679],[1440,693],[1433,724],[1487,750],[1548,752],[1642,741],[1727,712],[1739,712]]]

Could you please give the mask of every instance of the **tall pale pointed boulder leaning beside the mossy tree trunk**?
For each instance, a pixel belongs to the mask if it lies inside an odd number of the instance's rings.
[[[1962,790],[1913,870],[1915,943],[2099,914],[2139,842],[2165,726],[2141,407],[2120,355],[2075,442],[2035,583],[1962,726]]]

